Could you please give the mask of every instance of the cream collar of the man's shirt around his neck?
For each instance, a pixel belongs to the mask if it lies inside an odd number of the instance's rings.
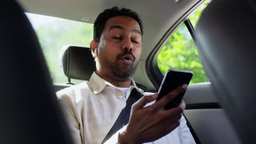
[[[92,85],[92,88],[94,89],[94,93],[100,93],[103,91],[103,89],[108,85],[114,88],[117,88],[113,86],[111,83],[107,82],[106,80],[102,79],[100,76],[98,76],[95,71],[92,73],[91,78],[90,78],[90,83]],[[135,87],[137,89],[135,81],[131,81],[131,86],[130,87]]]

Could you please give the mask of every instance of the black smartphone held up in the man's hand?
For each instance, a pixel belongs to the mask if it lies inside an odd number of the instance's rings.
[[[158,99],[164,97],[167,93],[173,91],[173,89],[187,84],[189,85],[190,80],[192,79],[193,72],[187,70],[168,70],[165,74],[164,79],[162,80],[161,86],[158,90]],[[178,106],[185,94],[185,91],[179,94],[175,99],[173,99],[169,104],[167,104],[164,109],[169,110],[173,107]]]

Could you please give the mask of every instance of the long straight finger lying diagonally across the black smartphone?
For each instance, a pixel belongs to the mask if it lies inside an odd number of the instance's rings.
[[[153,107],[155,107],[155,109],[162,109],[162,107],[170,103],[170,101],[176,98],[180,93],[184,92],[187,87],[188,85],[186,84],[177,87],[176,89],[174,89],[170,93],[167,93],[164,97],[156,101],[156,103],[153,104]]]

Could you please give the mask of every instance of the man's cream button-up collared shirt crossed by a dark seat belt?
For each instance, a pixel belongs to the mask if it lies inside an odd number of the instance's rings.
[[[138,92],[141,91],[132,80],[132,85],[125,97],[123,91],[93,73],[90,81],[57,92],[57,97],[66,109],[75,142],[77,144],[101,143],[126,106],[126,100],[133,88]],[[143,95],[150,94],[152,93],[143,93]],[[118,132],[106,143],[116,143],[117,138]],[[154,143],[195,143],[195,141],[182,116],[179,127]]]

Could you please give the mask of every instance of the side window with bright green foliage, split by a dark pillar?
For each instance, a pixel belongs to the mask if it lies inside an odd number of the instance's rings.
[[[189,20],[194,28],[208,3],[210,1],[203,3],[189,16]],[[193,71],[194,75],[190,84],[208,81],[196,45],[185,23],[179,26],[162,48],[158,56],[158,67],[162,75],[165,75],[168,69]]]

